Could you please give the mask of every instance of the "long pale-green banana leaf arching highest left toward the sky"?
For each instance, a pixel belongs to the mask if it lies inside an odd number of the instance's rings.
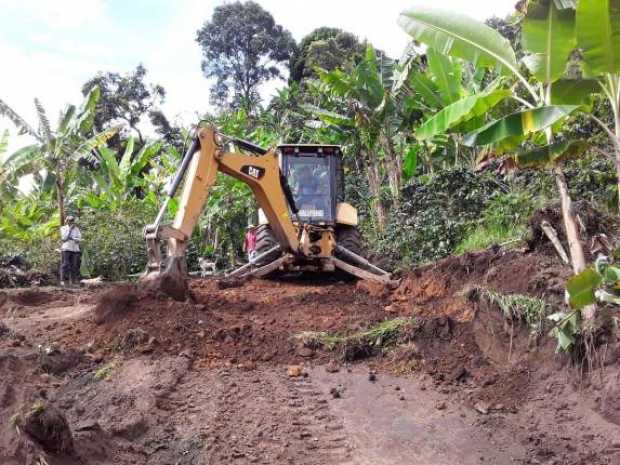
[[[498,68],[502,74],[518,74],[510,42],[468,16],[418,1],[400,14],[398,24],[415,40],[440,53],[463,58],[476,66]]]

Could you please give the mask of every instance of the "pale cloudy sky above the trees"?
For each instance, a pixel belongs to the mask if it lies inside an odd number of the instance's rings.
[[[320,26],[339,27],[398,57],[408,42],[396,24],[412,0],[257,0],[299,41]],[[484,20],[510,13],[516,0],[432,0]],[[35,97],[55,123],[82,84],[98,72],[126,73],[142,63],[147,82],[164,86],[166,115],[192,123],[208,110],[210,81],[200,70],[196,31],[224,0],[0,0],[0,98],[36,124]],[[284,82],[271,83],[264,97]],[[0,117],[0,133],[12,123]],[[23,138],[11,137],[10,148]]]

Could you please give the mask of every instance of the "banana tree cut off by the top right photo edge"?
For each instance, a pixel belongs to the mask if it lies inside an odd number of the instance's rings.
[[[579,0],[576,30],[584,79],[575,86],[586,93],[592,91],[592,81],[596,82],[613,114],[613,129],[591,116],[614,147],[620,209],[620,0]]]

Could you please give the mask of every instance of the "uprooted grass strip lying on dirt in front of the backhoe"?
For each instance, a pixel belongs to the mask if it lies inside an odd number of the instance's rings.
[[[331,351],[342,348],[345,358],[355,359],[370,355],[373,349],[396,344],[401,336],[415,326],[416,321],[413,318],[394,318],[348,336],[329,334],[324,331],[303,331],[294,335],[293,339],[312,349],[323,347]]]

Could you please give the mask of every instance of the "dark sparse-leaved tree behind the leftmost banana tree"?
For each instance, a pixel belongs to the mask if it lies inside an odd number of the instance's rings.
[[[103,131],[112,126],[121,127],[119,138],[110,143],[117,150],[120,150],[121,138],[129,137],[132,132],[137,135],[139,144],[144,145],[139,125],[146,117],[162,136],[174,136],[175,129],[159,108],[166,91],[159,84],[145,83],[145,77],[146,68],[138,65],[127,74],[99,73],[82,86],[84,96],[95,86],[100,89],[101,98],[95,108],[95,129]]]

